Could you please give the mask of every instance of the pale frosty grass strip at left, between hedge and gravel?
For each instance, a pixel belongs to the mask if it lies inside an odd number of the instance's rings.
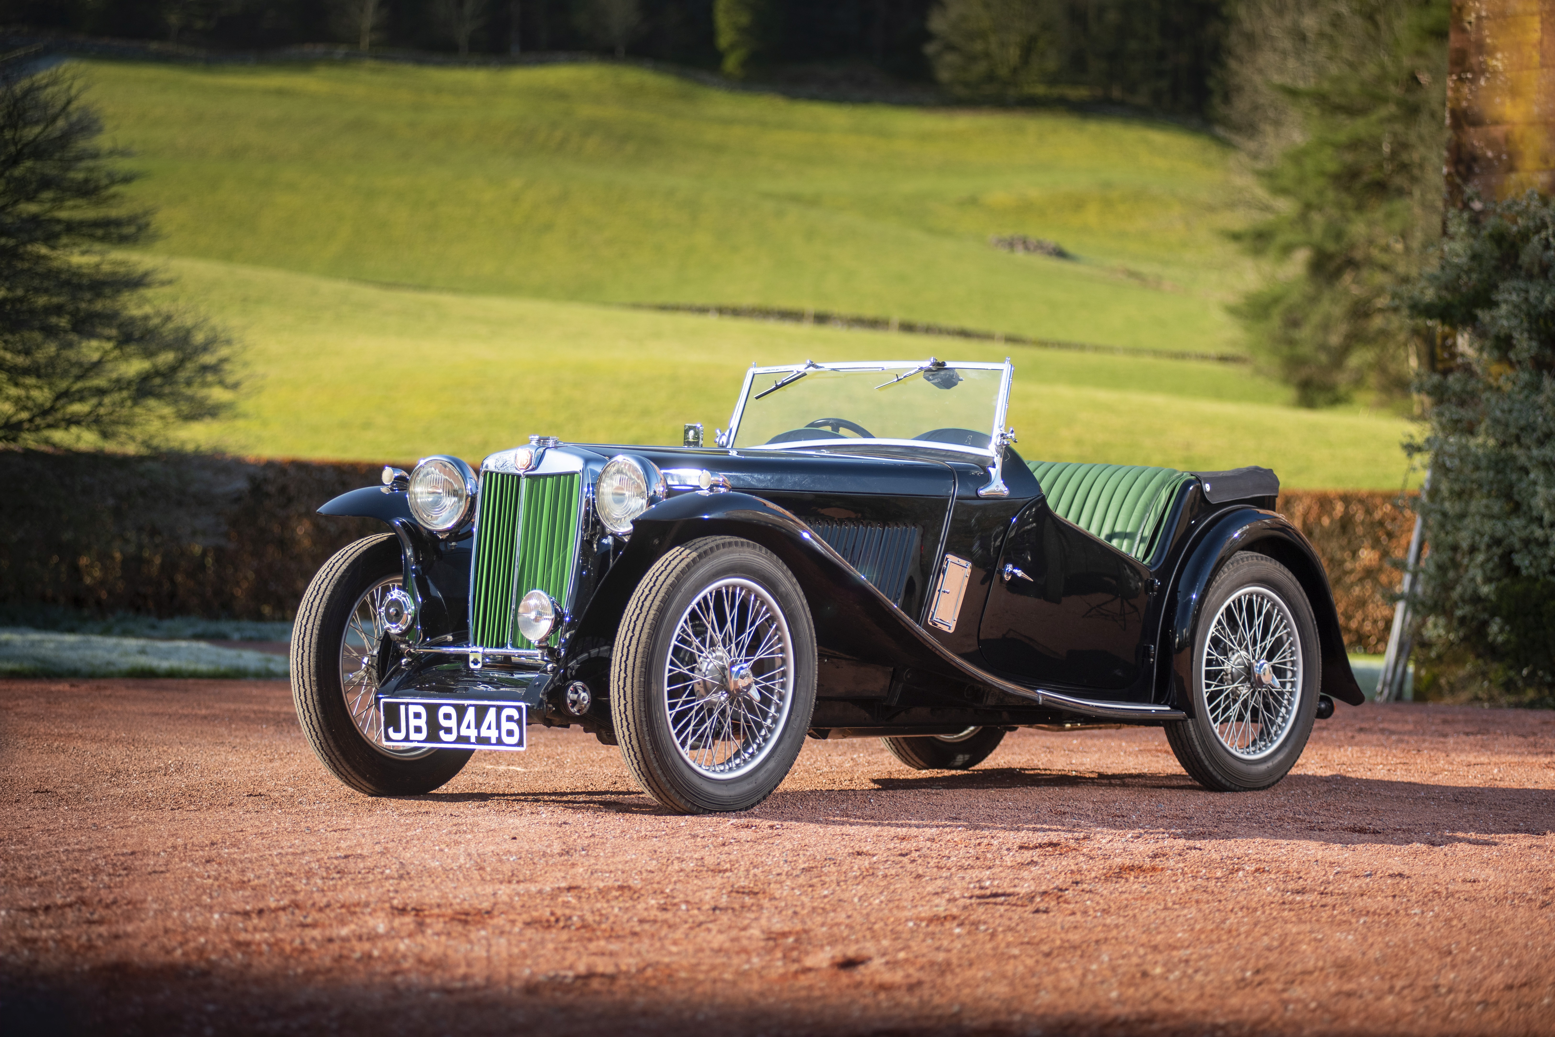
[[[199,641],[146,641],[0,627],[3,676],[285,678],[286,659]]]

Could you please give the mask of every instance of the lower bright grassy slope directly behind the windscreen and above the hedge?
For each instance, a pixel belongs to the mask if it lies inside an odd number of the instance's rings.
[[[675,443],[728,423],[751,361],[1015,362],[1026,457],[1182,468],[1269,465],[1289,487],[1398,487],[1404,421],[1291,407],[1244,367],[998,348],[958,339],[392,289],[174,260],[173,295],[249,344],[250,396],[202,445],[249,454],[479,460],[529,434]]]

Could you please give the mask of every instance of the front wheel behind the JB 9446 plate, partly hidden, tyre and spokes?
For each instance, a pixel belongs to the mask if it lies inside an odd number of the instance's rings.
[[[292,703],[314,756],[369,796],[415,796],[446,785],[468,749],[390,749],[381,745],[378,603],[403,586],[393,533],[337,550],[297,606],[291,642]]]

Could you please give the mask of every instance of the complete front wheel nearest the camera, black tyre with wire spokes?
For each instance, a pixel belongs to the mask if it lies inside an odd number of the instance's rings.
[[[815,627],[770,550],[670,549],[616,634],[610,714],[642,790],[676,813],[750,810],[778,788],[815,709]]]

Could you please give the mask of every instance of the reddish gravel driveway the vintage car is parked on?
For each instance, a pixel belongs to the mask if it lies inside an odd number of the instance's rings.
[[[810,742],[704,818],[530,735],[369,799],[283,683],[0,681],[0,1032],[1555,1032],[1555,714],[1339,706],[1239,796]]]

